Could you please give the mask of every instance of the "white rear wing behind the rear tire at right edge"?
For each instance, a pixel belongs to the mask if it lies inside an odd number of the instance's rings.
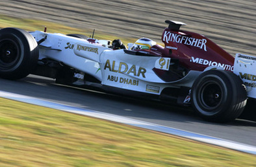
[[[234,73],[244,82],[248,97],[256,99],[256,56],[236,54]]]

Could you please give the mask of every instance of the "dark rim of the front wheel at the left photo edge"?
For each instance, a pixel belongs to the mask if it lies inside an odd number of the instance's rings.
[[[16,42],[10,39],[0,41],[0,68],[10,69],[19,60],[19,47]]]

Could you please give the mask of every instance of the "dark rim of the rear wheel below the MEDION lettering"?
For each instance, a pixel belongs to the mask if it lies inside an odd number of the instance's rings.
[[[199,104],[206,113],[217,113],[218,107],[222,105],[224,91],[220,83],[210,81],[205,82],[199,88]]]

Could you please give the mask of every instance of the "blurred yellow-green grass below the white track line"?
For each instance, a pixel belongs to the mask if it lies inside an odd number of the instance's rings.
[[[255,158],[0,98],[0,166],[253,166]]]

